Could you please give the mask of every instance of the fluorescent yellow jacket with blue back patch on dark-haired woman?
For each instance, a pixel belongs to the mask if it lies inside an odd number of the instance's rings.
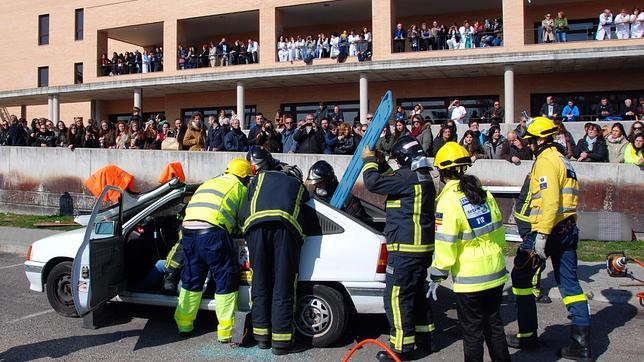
[[[505,284],[503,217],[492,194],[483,205],[473,205],[447,182],[436,205],[436,242],[433,269],[451,271],[455,293],[470,293]],[[433,273],[433,272],[432,272]]]

